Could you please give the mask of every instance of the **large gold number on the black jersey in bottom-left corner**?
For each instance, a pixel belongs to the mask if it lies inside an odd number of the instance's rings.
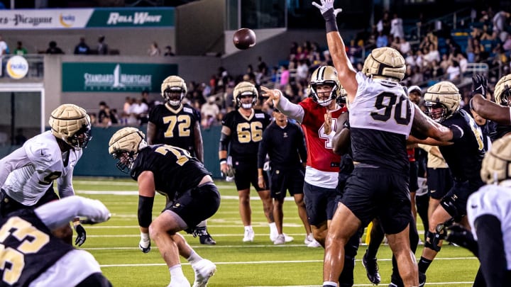
[[[2,244],[9,235],[21,241],[18,248],[13,249]],[[28,221],[18,217],[9,218],[0,229],[0,269],[4,270],[2,281],[9,285],[16,283],[25,267],[25,254],[38,252],[48,242],[50,235],[38,230]]]

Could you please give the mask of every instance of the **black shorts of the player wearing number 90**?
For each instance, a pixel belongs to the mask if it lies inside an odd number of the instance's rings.
[[[380,218],[386,234],[405,230],[412,217],[409,174],[387,169],[355,167],[341,198],[347,208],[367,226]]]

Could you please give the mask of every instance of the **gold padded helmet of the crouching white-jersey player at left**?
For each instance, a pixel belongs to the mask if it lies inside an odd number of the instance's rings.
[[[55,108],[48,123],[52,134],[72,147],[85,148],[92,139],[89,115],[83,108],[72,103]]]

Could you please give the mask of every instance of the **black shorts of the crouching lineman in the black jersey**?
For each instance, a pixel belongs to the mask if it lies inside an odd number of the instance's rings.
[[[213,183],[207,183],[176,194],[175,200],[167,203],[164,211],[171,210],[179,215],[188,225],[188,231],[193,230],[202,220],[213,216],[219,206],[218,188]]]

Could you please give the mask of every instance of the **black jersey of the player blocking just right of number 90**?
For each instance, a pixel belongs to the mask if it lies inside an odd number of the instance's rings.
[[[440,146],[439,150],[449,165],[449,170],[456,181],[471,181],[477,188],[483,186],[480,168],[485,154],[483,133],[476,121],[464,110],[459,110],[442,125],[458,125],[463,129],[463,137],[454,140],[454,145]]]

